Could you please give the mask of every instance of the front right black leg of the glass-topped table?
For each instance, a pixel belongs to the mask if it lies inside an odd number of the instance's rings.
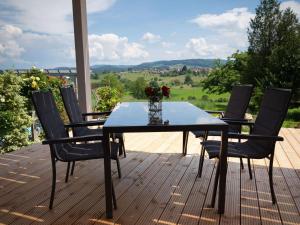
[[[225,211],[226,197],[226,175],[227,175],[227,147],[228,147],[228,128],[222,131],[222,144],[220,149],[220,184],[219,184],[219,199],[218,212],[223,214]]]

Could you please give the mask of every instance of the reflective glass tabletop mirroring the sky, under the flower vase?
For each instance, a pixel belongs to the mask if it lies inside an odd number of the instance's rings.
[[[149,111],[148,102],[118,104],[104,124],[107,127],[227,125],[189,102],[162,102],[159,119]],[[155,114],[155,112],[154,112]]]

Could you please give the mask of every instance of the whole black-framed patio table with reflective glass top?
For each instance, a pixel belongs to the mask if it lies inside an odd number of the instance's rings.
[[[228,124],[188,102],[163,102],[160,122],[153,124],[147,102],[118,104],[103,125],[106,217],[113,217],[112,177],[109,138],[113,133],[183,132],[183,155],[186,154],[188,132],[193,130],[221,131],[218,212],[224,213],[227,173]],[[214,188],[216,191],[216,187]],[[214,191],[214,192],[215,192]],[[213,195],[213,199],[215,196]],[[212,201],[212,206],[214,205]]]

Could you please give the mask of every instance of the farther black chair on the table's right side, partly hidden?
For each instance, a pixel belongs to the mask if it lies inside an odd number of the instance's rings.
[[[219,114],[221,119],[234,119],[234,120],[244,120],[245,113],[248,108],[250,98],[252,95],[253,86],[252,85],[238,85],[233,87],[230,99],[227,104],[226,111],[207,111],[212,114]],[[241,125],[230,125],[229,132],[240,133]],[[193,134],[197,138],[202,138],[203,140],[207,140],[209,136],[221,136],[221,132],[218,131],[193,131]],[[200,161],[199,161],[199,169],[198,176],[202,175],[202,167],[204,162],[205,150],[202,147],[200,153]],[[241,159],[242,169],[244,168],[243,161]],[[248,161],[248,168],[250,168],[250,161]],[[250,178],[252,179],[252,174],[250,173]]]

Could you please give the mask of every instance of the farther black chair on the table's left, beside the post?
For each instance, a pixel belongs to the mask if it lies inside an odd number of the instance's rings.
[[[60,93],[62,96],[62,100],[66,109],[66,112],[68,114],[68,118],[71,123],[83,123],[87,124],[89,126],[94,126],[94,125],[103,125],[105,123],[105,119],[100,119],[97,121],[87,121],[88,116],[98,116],[98,117],[105,117],[108,116],[111,112],[90,112],[90,113],[82,113],[78,100],[76,98],[76,94],[74,91],[73,86],[65,86],[65,87],[60,87]],[[102,134],[102,129],[97,128],[97,129],[90,129],[87,126],[78,126],[78,127],[73,127],[73,136],[86,136],[86,135],[103,135]],[[118,139],[119,142],[119,155],[124,154],[124,157],[126,157],[126,152],[125,152],[125,145],[124,145],[124,136],[122,133],[114,134],[113,139]],[[70,166],[70,165],[69,165]],[[73,175],[74,173],[74,168],[75,168],[75,163],[73,162],[72,164],[72,169],[71,169],[71,174]],[[121,170],[119,168],[118,164],[118,170],[119,170],[119,177],[121,178]],[[68,180],[69,174],[66,175],[66,180]]]

